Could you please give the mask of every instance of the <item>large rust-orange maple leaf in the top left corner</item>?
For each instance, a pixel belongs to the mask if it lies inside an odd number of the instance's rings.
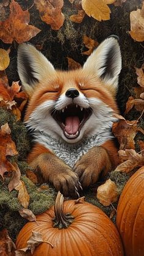
[[[0,21],[0,39],[4,43],[17,43],[29,41],[40,32],[37,27],[29,25],[30,15],[28,10],[22,10],[18,2],[10,3],[10,16],[5,21]]]

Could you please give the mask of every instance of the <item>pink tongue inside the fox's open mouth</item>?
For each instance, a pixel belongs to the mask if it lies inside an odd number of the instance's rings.
[[[75,134],[79,130],[79,117],[66,117],[65,119],[65,131],[69,134]]]

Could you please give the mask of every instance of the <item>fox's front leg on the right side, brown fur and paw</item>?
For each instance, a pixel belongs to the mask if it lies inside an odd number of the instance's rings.
[[[101,146],[94,146],[75,164],[74,172],[79,176],[83,188],[95,183],[99,175],[104,177],[118,164],[117,147],[113,141],[107,141]]]

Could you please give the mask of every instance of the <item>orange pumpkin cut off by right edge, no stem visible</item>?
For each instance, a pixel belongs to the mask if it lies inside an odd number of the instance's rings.
[[[118,202],[117,227],[126,256],[144,255],[144,167],[124,186]]]

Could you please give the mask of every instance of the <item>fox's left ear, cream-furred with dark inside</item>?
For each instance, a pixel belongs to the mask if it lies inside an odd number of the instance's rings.
[[[55,72],[51,62],[34,46],[18,46],[18,75],[24,90],[31,95],[38,82],[48,79]]]

